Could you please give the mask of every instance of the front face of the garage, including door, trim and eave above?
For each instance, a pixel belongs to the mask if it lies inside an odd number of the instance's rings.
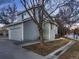
[[[13,24],[13,26],[8,27],[9,32],[9,39],[10,40],[23,40],[23,25],[22,24]]]

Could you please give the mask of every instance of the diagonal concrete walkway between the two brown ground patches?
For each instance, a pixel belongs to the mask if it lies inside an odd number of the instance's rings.
[[[70,41],[66,45],[62,46],[61,48],[55,50],[48,56],[46,56],[46,59],[58,59],[59,56],[61,56],[63,53],[65,53],[73,44],[75,44],[75,41]]]

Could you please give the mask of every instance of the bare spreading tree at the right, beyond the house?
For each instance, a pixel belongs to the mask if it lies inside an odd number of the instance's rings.
[[[56,16],[56,22],[60,27],[60,34],[64,33],[64,27],[68,25],[68,28],[72,24],[76,23],[79,20],[79,1],[69,0],[66,4],[59,8],[59,14]]]

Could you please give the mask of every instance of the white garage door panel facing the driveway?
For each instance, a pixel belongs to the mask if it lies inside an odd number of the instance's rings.
[[[22,31],[21,28],[15,28],[10,30],[10,36],[12,40],[21,41],[22,40]]]

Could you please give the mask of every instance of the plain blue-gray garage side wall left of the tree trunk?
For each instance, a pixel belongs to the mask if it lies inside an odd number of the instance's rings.
[[[36,40],[39,37],[39,32],[36,24],[31,20],[24,23],[24,40]]]

